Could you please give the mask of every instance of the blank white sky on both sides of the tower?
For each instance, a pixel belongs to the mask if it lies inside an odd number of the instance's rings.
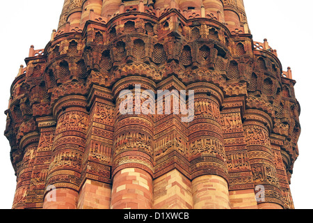
[[[57,29],[63,0],[15,0],[1,2],[0,13],[0,209],[12,207],[16,177],[10,164],[10,145],[3,136],[6,127],[4,111],[8,107],[10,85],[19,66],[29,54],[29,47],[45,48],[51,31]],[[312,124],[313,84],[311,68],[313,56],[310,43],[313,40],[312,3],[308,0],[244,0],[248,23],[253,39],[277,49],[284,70],[290,66],[296,79],[296,97],[300,102],[301,135],[298,142],[300,156],[296,160],[291,178],[291,194],[297,209],[313,209],[312,173],[309,169],[313,158],[310,128]],[[311,4],[311,6],[309,6]]]

